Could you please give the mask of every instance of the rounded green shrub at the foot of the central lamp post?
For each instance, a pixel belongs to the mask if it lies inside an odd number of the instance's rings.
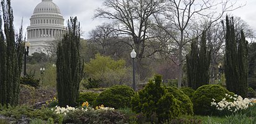
[[[130,107],[130,99],[135,94],[129,86],[112,86],[101,92],[93,106],[104,105],[105,107],[124,108]]]

